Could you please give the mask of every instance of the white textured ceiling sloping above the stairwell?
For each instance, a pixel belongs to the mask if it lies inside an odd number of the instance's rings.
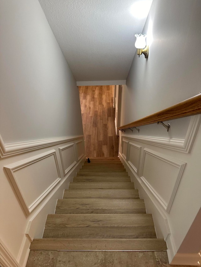
[[[77,81],[126,80],[146,20],[130,13],[136,0],[39,2]]]

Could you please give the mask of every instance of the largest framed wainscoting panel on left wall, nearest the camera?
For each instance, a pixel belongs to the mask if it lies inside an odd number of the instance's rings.
[[[26,215],[29,215],[61,180],[55,150],[5,166],[4,169]]]

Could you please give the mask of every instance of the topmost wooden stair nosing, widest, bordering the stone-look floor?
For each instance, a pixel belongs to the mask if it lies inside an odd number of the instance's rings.
[[[164,239],[34,239],[30,250],[166,250]]]

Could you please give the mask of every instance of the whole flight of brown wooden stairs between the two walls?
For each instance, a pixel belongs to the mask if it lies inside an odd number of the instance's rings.
[[[30,250],[166,250],[151,214],[117,157],[85,162],[55,214],[48,214],[42,239]]]

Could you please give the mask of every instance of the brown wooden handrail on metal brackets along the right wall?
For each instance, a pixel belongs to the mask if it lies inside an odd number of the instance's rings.
[[[120,126],[117,130],[128,129],[137,126],[157,123],[158,121],[169,121],[182,117],[192,116],[201,113],[201,94],[195,95],[187,100],[184,100],[176,105],[173,105],[164,110],[158,111],[138,121],[133,121],[129,124]]]

